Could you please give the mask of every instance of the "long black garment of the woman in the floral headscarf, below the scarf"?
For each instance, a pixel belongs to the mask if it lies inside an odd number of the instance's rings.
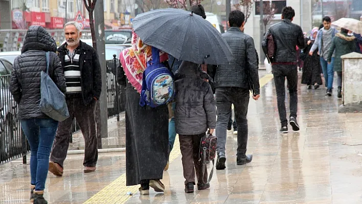
[[[140,184],[141,180],[162,179],[168,161],[167,105],[141,107],[140,94],[127,83],[121,68],[118,83],[126,88],[126,185]]]

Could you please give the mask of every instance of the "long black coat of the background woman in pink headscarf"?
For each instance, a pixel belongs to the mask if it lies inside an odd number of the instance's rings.
[[[313,85],[318,83],[321,85],[321,63],[320,56],[317,54],[318,50],[315,50],[312,56],[308,54],[313,46],[313,43],[314,40],[312,40],[312,43],[310,43],[301,54],[302,58],[304,58],[302,84]]]

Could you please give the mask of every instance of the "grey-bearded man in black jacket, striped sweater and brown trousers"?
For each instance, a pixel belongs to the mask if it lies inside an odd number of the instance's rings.
[[[67,22],[64,26],[66,43],[58,48],[66,82],[66,103],[70,117],[59,123],[49,163],[49,171],[63,174],[63,162],[69,147],[69,135],[75,118],[82,130],[84,172],[96,170],[98,160],[95,108],[101,95],[101,65],[97,51],[80,41],[80,25]]]

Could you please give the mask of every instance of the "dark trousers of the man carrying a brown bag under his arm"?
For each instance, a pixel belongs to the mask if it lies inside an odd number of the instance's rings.
[[[297,109],[298,109],[298,67],[297,64],[273,64],[273,75],[275,88],[277,90],[277,102],[278,102],[278,111],[279,119],[282,127],[288,125],[288,120],[286,118],[286,109],[285,109],[285,78],[288,82],[289,89],[289,109],[290,116],[297,118]]]

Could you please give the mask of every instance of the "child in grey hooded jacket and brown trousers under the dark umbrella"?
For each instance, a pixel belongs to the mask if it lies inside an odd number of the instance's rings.
[[[200,141],[209,129],[216,126],[216,106],[210,84],[203,80],[198,64],[183,61],[176,72],[175,81],[175,127],[179,135],[182,164],[185,177],[185,192],[193,193],[195,171],[197,189],[208,189],[208,173],[202,167]],[[195,170],[194,170],[195,169]]]

